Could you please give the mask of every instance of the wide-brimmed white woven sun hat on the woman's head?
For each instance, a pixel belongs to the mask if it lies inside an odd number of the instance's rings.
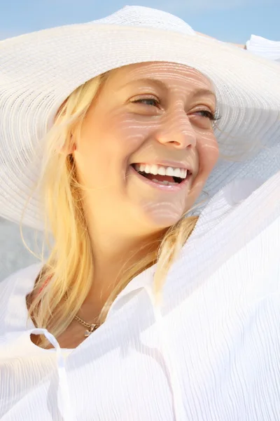
[[[0,216],[20,222],[57,109],[85,81],[137,62],[188,65],[208,76],[218,98],[221,159],[205,191],[235,178],[266,180],[280,169],[279,64],[198,36],[169,13],[126,6],[102,20],[0,42]],[[229,161],[234,156],[235,161]],[[40,192],[22,222],[43,228]]]

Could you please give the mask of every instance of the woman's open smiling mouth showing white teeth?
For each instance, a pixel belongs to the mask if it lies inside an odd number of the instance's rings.
[[[131,167],[143,181],[154,187],[162,187],[166,189],[178,189],[186,184],[186,181],[192,175],[191,171],[185,168],[175,168],[171,166],[161,166],[148,163],[132,163]],[[174,190],[174,188],[172,189]]]

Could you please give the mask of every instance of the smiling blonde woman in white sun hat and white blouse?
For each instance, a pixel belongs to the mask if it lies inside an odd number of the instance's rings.
[[[2,48],[1,215],[50,255],[1,283],[1,420],[278,419],[272,284],[235,258],[278,215],[248,218],[279,67],[141,7]]]

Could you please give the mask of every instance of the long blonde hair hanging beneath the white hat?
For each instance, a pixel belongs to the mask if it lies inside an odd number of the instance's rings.
[[[62,149],[71,150],[74,135],[78,135],[87,109],[97,98],[107,76],[108,73],[97,76],[69,95],[59,108],[55,124],[44,142],[38,187],[45,214],[44,239],[50,254],[29,295],[28,306],[35,326],[48,328],[55,337],[64,332],[78,313],[94,279],[91,243],[80,194],[83,187],[78,183],[73,157],[62,153]],[[99,323],[105,321],[113,300],[127,283],[155,262],[155,293],[160,293],[169,267],[196,222],[196,216],[182,217],[162,234],[158,243],[151,244],[151,250],[141,260],[125,270],[102,309]],[[46,347],[48,342],[41,338],[40,345]]]

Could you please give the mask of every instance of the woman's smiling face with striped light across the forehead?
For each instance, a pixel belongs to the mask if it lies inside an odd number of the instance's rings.
[[[211,82],[153,62],[109,74],[87,112],[74,157],[95,224],[133,235],[177,222],[218,159]]]

